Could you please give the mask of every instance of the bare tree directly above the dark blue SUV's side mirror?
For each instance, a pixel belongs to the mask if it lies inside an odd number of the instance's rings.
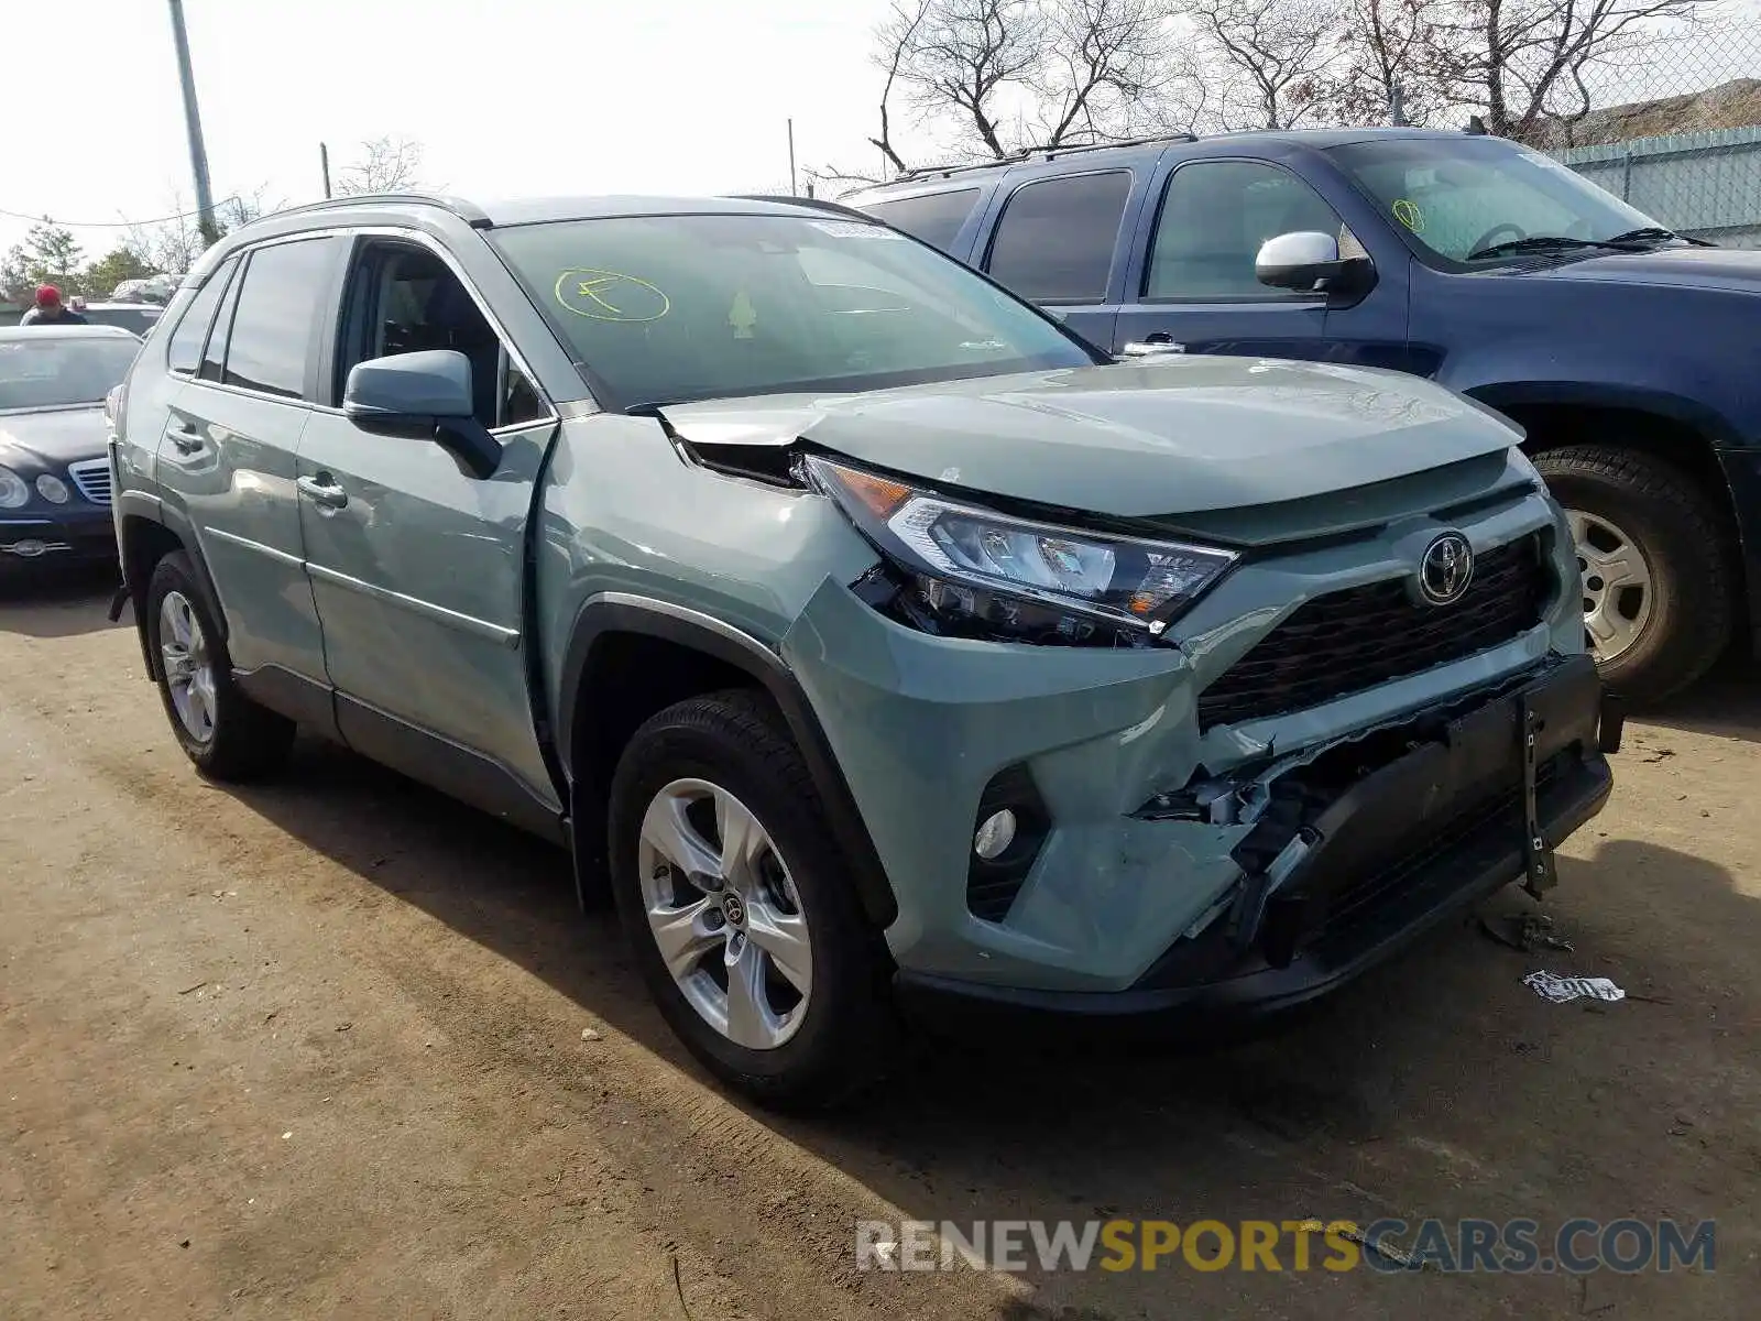
[[[1338,19],[1330,0],[1182,0],[1217,74],[1224,129],[1294,129],[1326,111]]]

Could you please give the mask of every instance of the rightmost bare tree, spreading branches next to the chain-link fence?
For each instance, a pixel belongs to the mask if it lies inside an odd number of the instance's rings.
[[[1433,51],[1453,99],[1502,137],[1569,136],[1595,104],[1594,76],[1639,62],[1712,0],[1451,0]]]

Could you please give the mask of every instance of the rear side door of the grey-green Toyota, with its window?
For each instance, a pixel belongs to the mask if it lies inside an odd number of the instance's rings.
[[[324,645],[303,565],[294,453],[312,416],[321,291],[342,254],[329,236],[276,241],[208,282],[169,345],[181,384],[155,467],[220,597],[232,666],[315,697],[292,713],[322,726]],[[289,676],[305,682],[280,682]]]

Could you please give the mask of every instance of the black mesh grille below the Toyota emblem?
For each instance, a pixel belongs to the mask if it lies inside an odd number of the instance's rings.
[[[1453,606],[1419,604],[1400,578],[1301,606],[1199,694],[1199,727],[1300,712],[1509,641],[1541,620],[1539,537],[1479,555]]]

